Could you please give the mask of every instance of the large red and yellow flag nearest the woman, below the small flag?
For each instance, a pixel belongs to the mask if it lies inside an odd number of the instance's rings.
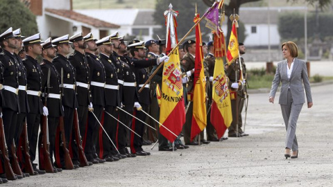
[[[222,59],[225,56],[225,38],[223,32],[220,32],[219,36],[214,33],[214,48],[216,61],[213,76],[213,100],[210,122],[215,127],[217,137],[221,139],[225,130],[227,130],[232,122],[228,79],[224,72]]]

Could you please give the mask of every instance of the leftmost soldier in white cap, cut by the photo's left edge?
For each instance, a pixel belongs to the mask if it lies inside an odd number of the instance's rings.
[[[3,120],[3,131],[5,140],[8,145],[8,150],[11,148],[12,140],[15,137],[17,125],[17,113],[19,113],[19,98],[18,94],[18,62],[14,55],[17,48],[17,39],[12,34],[12,28],[8,28],[0,35],[0,46],[3,51],[0,53],[1,62],[1,109]],[[6,149],[6,148],[5,148]],[[10,151],[9,151],[10,152]],[[4,152],[2,154],[5,154]],[[10,159],[12,159],[11,155]],[[1,159],[1,166],[4,166]],[[22,179],[22,175],[15,173],[15,179]],[[6,173],[3,167],[0,167],[0,177],[6,178]],[[1,179],[6,181],[6,179]]]

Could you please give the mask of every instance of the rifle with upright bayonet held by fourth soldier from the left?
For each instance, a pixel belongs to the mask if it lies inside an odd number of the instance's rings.
[[[46,107],[47,98],[50,94],[50,78],[51,78],[51,70],[47,72],[47,83],[44,90],[44,106]],[[40,123],[40,136],[39,136],[39,163],[40,169],[45,170],[46,172],[54,172],[52,163],[51,163],[51,155],[50,155],[50,141],[49,141],[49,124],[47,121],[47,116],[41,116]]]

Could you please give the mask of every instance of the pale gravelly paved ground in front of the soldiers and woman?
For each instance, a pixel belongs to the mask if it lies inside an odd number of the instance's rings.
[[[176,152],[155,148],[147,157],[28,177],[2,186],[333,186],[332,93],[333,84],[312,86],[314,107],[304,106],[298,120],[298,159],[284,158],[286,133],[280,106],[268,103],[267,93],[251,94],[248,137]]]

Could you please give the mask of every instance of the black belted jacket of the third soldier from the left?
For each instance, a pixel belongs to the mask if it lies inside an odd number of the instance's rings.
[[[26,55],[26,59],[23,60],[24,66],[26,66],[26,79],[28,80],[27,91],[40,91],[42,94],[42,69],[37,60],[33,57]],[[43,114],[42,95],[33,96],[28,94],[28,103],[31,114]]]

